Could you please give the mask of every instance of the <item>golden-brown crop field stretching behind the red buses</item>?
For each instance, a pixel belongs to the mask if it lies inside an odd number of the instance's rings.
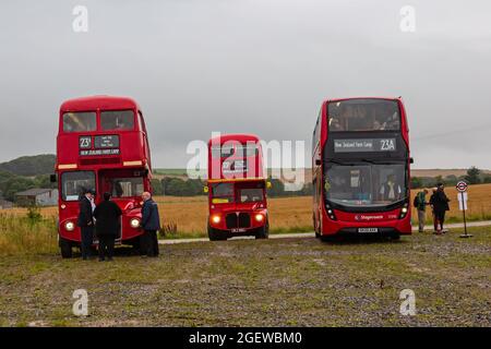
[[[462,212],[458,210],[457,191],[455,188],[447,188],[446,193],[452,200],[447,221],[460,221]],[[164,225],[170,222],[177,225],[178,233],[176,237],[205,236],[207,217],[207,200],[205,196],[157,196],[155,200],[159,205]],[[312,231],[312,198],[310,196],[270,198],[268,206],[272,232]],[[26,209],[12,208],[0,210],[0,213],[25,215]],[[41,214],[45,217],[53,217],[57,213],[57,207],[41,208]],[[491,219],[491,184],[469,186],[467,216],[470,220]],[[416,217],[415,212],[412,217]],[[430,222],[430,209],[428,209],[427,218]]]

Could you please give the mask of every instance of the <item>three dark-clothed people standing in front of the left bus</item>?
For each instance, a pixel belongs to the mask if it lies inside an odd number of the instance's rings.
[[[112,261],[115,241],[121,230],[121,208],[111,201],[110,193],[104,193],[104,201],[95,205],[94,191],[85,190],[79,201],[80,213],[77,226],[81,228],[82,258],[91,257],[94,234],[98,240],[99,261]],[[141,254],[144,256],[158,256],[157,231],[160,230],[160,217],[157,204],[152,200],[152,194],[142,194],[142,220],[143,234],[140,240]]]

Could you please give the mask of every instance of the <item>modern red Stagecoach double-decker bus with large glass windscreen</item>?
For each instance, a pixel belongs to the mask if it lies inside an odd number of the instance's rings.
[[[312,137],[315,236],[410,234],[411,163],[400,97],[324,101]]]

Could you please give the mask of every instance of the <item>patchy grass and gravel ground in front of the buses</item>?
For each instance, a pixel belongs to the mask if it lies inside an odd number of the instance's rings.
[[[112,263],[3,256],[0,325],[491,326],[491,228],[471,232],[168,244]],[[72,314],[81,288],[86,317]],[[403,289],[414,316],[399,313]]]

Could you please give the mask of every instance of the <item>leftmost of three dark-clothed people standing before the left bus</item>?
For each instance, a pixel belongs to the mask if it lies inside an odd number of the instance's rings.
[[[76,224],[81,231],[81,251],[84,261],[91,256],[91,248],[94,239],[93,198],[93,191],[84,190],[83,195],[79,200],[79,219]]]

